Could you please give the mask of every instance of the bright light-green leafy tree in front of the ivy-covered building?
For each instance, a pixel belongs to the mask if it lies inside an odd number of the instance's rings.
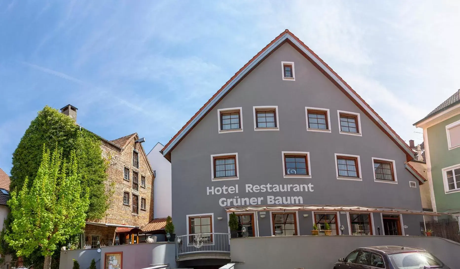
[[[74,151],[70,152],[69,161],[63,158],[61,148],[55,148],[51,155],[43,146],[42,152],[30,189],[29,177],[26,177],[19,191],[11,191],[8,201],[11,230],[6,231],[4,238],[17,256],[27,257],[40,249],[45,261],[51,263],[58,244],[80,234],[85,227],[89,192],[82,189]],[[45,264],[44,268],[50,265]]]

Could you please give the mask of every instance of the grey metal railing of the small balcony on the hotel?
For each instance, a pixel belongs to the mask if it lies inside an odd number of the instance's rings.
[[[176,258],[199,252],[230,253],[230,234],[202,233],[176,236]]]

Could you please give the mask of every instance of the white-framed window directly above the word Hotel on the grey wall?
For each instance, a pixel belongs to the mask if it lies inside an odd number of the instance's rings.
[[[211,155],[211,180],[239,179],[238,153],[224,153]]]

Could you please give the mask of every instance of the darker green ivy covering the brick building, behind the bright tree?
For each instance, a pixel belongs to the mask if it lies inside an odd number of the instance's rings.
[[[63,156],[70,156],[70,152],[74,151],[83,191],[89,191],[90,206],[86,218],[101,219],[109,204],[104,185],[107,179],[107,162],[102,157],[100,144],[100,139],[95,134],[82,129],[73,119],[56,109],[45,106],[30,123],[13,153],[10,189],[21,188],[26,177],[35,178],[43,145],[51,152],[61,148]],[[30,180],[28,186],[31,187],[32,184],[33,181]]]

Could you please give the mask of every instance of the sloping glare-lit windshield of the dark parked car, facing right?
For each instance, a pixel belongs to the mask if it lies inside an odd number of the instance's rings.
[[[389,255],[395,269],[423,269],[425,266],[443,266],[444,264],[430,252],[405,252]]]

